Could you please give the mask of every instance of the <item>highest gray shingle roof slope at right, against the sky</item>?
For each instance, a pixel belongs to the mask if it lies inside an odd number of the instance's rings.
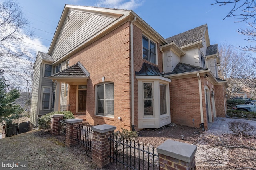
[[[168,41],[168,43],[175,42],[180,47],[195,43],[203,39],[206,28],[207,24],[201,25],[200,27],[169,37],[166,41]]]

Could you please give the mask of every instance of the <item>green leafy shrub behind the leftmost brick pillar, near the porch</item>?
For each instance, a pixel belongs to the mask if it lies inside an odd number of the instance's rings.
[[[64,120],[75,118],[71,111],[53,111],[45,115],[42,115],[41,117],[38,118],[38,125],[40,129],[50,129],[50,125],[51,125],[50,115],[54,115],[54,114],[64,114],[64,117],[63,117]]]

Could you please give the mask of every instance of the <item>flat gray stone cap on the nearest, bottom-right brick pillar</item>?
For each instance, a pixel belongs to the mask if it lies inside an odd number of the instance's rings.
[[[190,163],[196,153],[196,145],[167,140],[156,148],[156,152]]]

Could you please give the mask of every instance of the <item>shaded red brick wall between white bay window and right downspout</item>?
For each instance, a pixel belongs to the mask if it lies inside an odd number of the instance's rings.
[[[198,78],[172,80],[170,83],[171,121],[179,125],[199,127],[201,123]]]

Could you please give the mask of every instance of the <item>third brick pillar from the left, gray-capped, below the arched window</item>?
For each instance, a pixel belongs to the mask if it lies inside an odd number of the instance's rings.
[[[107,124],[92,127],[92,162],[99,168],[103,168],[110,163],[110,158],[108,158],[110,141],[108,141],[108,138],[114,133],[115,129],[116,126]]]

